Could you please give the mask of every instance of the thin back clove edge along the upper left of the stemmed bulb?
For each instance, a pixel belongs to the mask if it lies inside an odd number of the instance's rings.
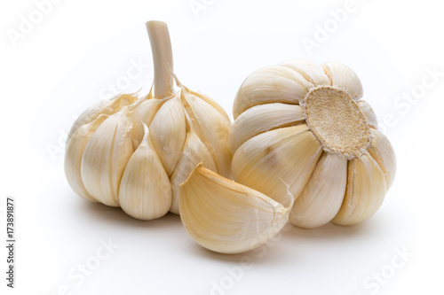
[[[117,113],[124,106],[132,105],[137,101],[138,97],[132,96],[131,94],[118,94],[115,97],[112,97],[109,100],[103,100],[95,105],[91,105],[87,108],[80,116],[75,120],[73,126],[69,130],[67,134],[67,142],[74,135],[75,131],[83,126],[84,124],[88,124],[101,114],[112,115],[113,113]]]

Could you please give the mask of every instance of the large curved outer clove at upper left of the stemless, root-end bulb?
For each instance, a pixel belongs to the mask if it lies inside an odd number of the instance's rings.
[[[287,66],[261,68],[250,74],[237,92],[233,105],[234,119],[254,105],[297,105],[311,87],[301,74]]]

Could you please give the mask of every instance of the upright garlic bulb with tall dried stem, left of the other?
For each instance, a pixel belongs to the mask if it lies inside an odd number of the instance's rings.
[[[147,32],[154,93],[123,94],[88,108],[69,132],[65,156],[75,193],[121,206],[141,220],[178,213],[178,185],[197,164],[230,177],[232,159],[227,114],[210,97],[178,82],[166,24],[148,21]]]

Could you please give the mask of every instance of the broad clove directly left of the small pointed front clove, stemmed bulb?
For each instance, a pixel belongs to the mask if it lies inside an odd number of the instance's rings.
[[[119,184],[134,151],[131,133],[130,113],[124,108],[97,128],[83,151],[83,184],[93,198],[107,206],[119,206]]]

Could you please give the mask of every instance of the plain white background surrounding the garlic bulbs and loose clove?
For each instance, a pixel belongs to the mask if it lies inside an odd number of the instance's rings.
[[[195,12],[196,3],[204,9]],[[42,19],[33,1],[2,1],[0,229],[5,240],[5,199],[12,196],[17,272],[16,288],[6,288],[2,246],[1,293],[441,294],[444,19],[438,4],[356,0],[338,23],[331,11],[343,9],[343,0],[63,0],[46,7]],[[29,14],[36,25],[12,41]],[[227,256],[196,245],[176,215],[137,221],[75,196],[63,172],[68,128],[109,95],[109,84],[120,83],[125,92],[147,85],[147,92],[153,68],[144,23],[150,19],[170,27],[181,82],[230,114],[243,79],[261,66],[312,58],[352,67],[398,157],[381,209],[353,227],[289,227],[261,251]],[[316,32],[325,26],[329,33],[321,40]],[[315,38],[317,47],[307,50],[303,40]],[[139,77],[128,79],[138,62],[145,65]],[[441,73],[436,81],[427,74],[433,69]],[[423,80],[434,83],[424,87]],[[97,262],[108,239],[118,247],[81,280],[78,266]],[[412,256],[403,260],[402,251]],[[249,266],[242,268],[241,260]],[[380,283],[372,278],[378,273]]]

